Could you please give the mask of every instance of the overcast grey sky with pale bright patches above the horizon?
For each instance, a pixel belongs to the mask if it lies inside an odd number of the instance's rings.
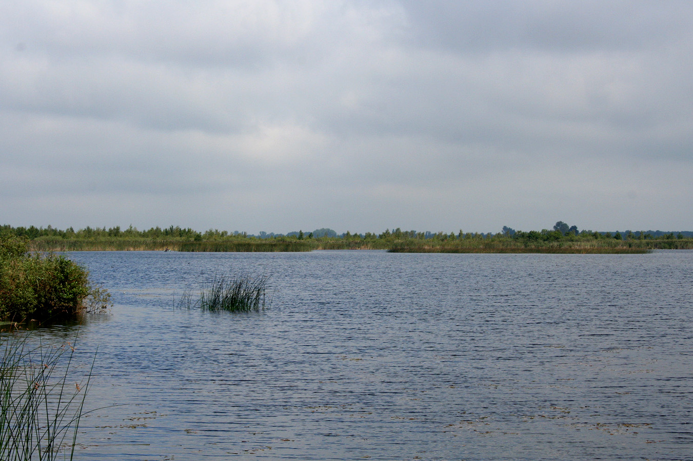
[[[0,224],[693,230],[693,2],[3,0]]]

